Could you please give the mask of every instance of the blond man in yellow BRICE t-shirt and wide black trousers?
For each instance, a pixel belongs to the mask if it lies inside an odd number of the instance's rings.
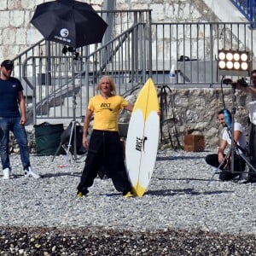
[[[99,95],[90,98],[84,118],[83,145],[88,148],[84,171],[78,186],[78,197],[89,193],[94,179],[102,167],[113,181],[115,189],[124,197],[132,196],[131,183],[125,170],[123,148],[118,132],[120,109],[132,111],[133,106],[122,96],[115,95],[115,84],[109,76],[100,79],[96,90]],[[88,140],[90,119],[94,117],[93,131]]]

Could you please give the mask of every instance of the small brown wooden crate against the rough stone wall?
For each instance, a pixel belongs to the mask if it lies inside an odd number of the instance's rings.
[[[205,137],[203,135],[189,134],[184,137],[184,150],[202,152],[205,150]]]

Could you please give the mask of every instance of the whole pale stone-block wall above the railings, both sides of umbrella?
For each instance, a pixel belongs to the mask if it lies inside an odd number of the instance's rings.
[[[79,0],[101,10],[103,0]],[[0,5],[0,60],[14,59],[43,37],[30,20],[36,6],[49,0],[1,0]],[[140,3],[141,2],[141,3]],[[151,9],[154,22],[216,21],[212,10],[202,0],[116,0],[116,9]]]

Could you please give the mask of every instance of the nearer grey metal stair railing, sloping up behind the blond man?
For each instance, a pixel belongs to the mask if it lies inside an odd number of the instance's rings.
[[[72,53],[27,57],[22,63],[22,78],[32,90],[28,109],[33,123],[37,119],[83,116],[104,74],[113,77],[118,94],[143,84],[150,70],[148,58],[141,57],[149,55],[149,44],[143,38],[145,30],[145,24],[132,26],[93,53],[79,55],[75,60]],[[50,67],[47,73],[45,67]]]

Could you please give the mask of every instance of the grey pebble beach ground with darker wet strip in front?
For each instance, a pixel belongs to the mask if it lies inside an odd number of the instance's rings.
[[[143,197],[96,178],[82,199],[84,159],[32,155],[35,180],[13,154],[14,177],[0,179],[0,255],[256,255],[256,183],[212,178],[210,153],[160,151]]]

